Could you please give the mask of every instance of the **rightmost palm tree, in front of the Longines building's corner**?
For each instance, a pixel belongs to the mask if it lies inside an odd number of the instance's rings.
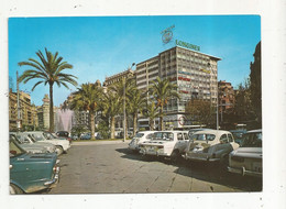
[[[169,99],[179,99],[179,95],[176,90],[177,86],[169,82],[167,78],[162,80],[157,77],[156,80],[152,82],[153,85],[150,88],[150,92],[156,100],[157,107],[160,107],[160,129],[163,130],[163,108],[167,105]]]

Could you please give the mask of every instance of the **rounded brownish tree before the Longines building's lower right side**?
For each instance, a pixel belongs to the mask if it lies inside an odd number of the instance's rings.
[[[187,103],[186,113],[198,124],[210,124],[215,109],[210,101],[194,98]]]

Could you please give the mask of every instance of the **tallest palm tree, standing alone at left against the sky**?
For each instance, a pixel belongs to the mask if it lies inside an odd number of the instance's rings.
[[[77,77],[70,74],[64,74],[64,69],[72,69],[73,65],[67,62],[62,62],[63,57],[58,57],[58,52],[52,54],[45,48],[45,55],[41,51],[36,53],[40,61],[29,58],[26,62],[20,62],[19,66],[29,66],[31,69],[26,69],[20,77],[19,81],[26,84],[32,79],[36,79],[37,82],[33,86],[32,91],[40,84],[50,86],[50,131],[54,131],[54,100],[53,100],[53,87],[56,84],[58,87],[62,85],[68,89],[67,84],[77,86],[75,80]]]

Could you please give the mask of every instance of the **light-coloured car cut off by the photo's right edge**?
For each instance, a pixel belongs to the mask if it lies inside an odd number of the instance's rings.
[[[229,155],[228,170],[241,175],[262,177],[262,130],[243,135],[241,147]]]

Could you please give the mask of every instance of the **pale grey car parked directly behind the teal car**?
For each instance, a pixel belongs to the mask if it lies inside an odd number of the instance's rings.
[[[44,147],[48,153],[56,152],[56,146],[51,143],[38,143],[32,135],[26,132],[10,132],[10,135],[14,135],[20,142],[20,145],[26,150],[25,147]]]

